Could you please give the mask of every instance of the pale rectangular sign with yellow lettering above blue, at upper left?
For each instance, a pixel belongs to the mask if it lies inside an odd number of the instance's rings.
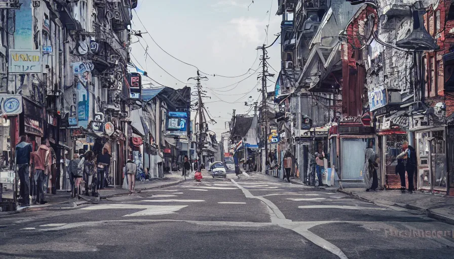
[[[10,73],[41,73],[40,50],[10,50]]]

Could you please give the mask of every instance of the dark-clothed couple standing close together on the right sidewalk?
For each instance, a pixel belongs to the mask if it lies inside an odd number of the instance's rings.
[[[412,146],[408,145],[407,141],[404,141],[402,143],[402,150],[403,152],[396,157],[397,159],[396,175],[399,174],[401,185],[400,190],[402,193],[405,193],[406,189],[405,172],[407,173],[408,192],[413,193],[414,192],[413,176],[414,171],[416,170],[418,165],[416,150]]]

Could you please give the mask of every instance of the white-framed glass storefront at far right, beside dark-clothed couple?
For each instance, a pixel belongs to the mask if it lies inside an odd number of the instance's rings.
[[[446,193],[448,189],[445,128],[415,131],[418,173],[414,181],[418,189]]]

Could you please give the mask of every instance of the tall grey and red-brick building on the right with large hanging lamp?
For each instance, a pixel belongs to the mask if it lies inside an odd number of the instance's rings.
[[[325,152],[344,185],[360,185],[364,150],[372,148],[381,187],[400,188],[396,155],[408,141],[418,153],[415,186],[454,187],[446,142],[453,12],[451,1],[279,1],[275,102],[291,114],[281,114],[291,130],[281,150],[293,149],[304,181],[313,184],[311,157]]]

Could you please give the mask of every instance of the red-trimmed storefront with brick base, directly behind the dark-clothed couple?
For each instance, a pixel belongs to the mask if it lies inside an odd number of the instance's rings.
[[[377,133],[377,154],[381,160],[380,183],[385,189],[400,189],[401,187],[400,177],[396,176],[396,157],[403,151],[404,141],[408,141],[407,131],[382,130]],[[406,186],[408,186],[408,180]]]

